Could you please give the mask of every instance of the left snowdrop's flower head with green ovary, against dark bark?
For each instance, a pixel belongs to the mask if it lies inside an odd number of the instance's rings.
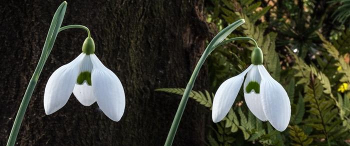
[[[95,101],[114,121],[119,121],[125,107],[125,94],[118,77],[94,54],[94,42],[87,37],[82,53],[73,61],[59,67],[48,78],[44,92],[44,108],[51,114],[63,107],[73,92],[85,106]]]

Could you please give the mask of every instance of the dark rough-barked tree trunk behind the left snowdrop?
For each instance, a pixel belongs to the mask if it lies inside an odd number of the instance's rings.
[[[0,145],[38,62],[53,13],[62,1],[7,0],[0,5]],[[155,92],[185,87],[204,50],[208,28],[200,0],[68,0],[63,25],[91,30],[95,54],[121,80],[126,107],[119,122],[96,103],[81,105],[71,95],[45,115],[43,90],[59,66],[81,52],[86,32],[60,32],[31,97],[17,145],[162,145],[180,96]],[[206,68],[195,88],[205,88]],[[204,145],[210,112],[189,99],[174,145]]]

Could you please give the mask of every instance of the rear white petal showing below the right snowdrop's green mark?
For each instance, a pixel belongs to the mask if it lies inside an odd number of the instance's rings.
[[[263,112],[261,105],[261,95],[251,91],[250,93],[244,92],[244,100],[251,113],[253,113],[258,119],[266,121],[267,118]]]

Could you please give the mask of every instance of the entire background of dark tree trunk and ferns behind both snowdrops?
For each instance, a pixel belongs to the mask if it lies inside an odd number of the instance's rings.
[[[39,59],[57,0],[0,5],[0,145],[7,141]],[[250,64],[252,42],[214,50],[201,68],[173,145],[348,145],[349,0],[67,0],[62,26],[87,26],[95,54],[119,77],[126,106],[119,122],[71,95],[45,115],[43,90],[59,66],[81,52],[86,32],[60,32],[36,85],[17,145],[163,145],[192,70],[218,31],[249,36],[282,84],[291,118],[279,132],[249,111],[239,92],[227,118],[211,121],[217,87]],[[157,89],[157,90],[155,90]],[[276,111],[278,112],[278,111]]]

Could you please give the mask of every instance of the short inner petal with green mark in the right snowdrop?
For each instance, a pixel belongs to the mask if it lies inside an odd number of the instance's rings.
[[[255,93],[259,93],[260,81],[261,81],[261,76],[257,68],[257,65],[253,65],[253,67],[246,74],[246,78],[244,80],[244,84],[243,84],[244,93],[249,93],[251,91],[254,91]]]

